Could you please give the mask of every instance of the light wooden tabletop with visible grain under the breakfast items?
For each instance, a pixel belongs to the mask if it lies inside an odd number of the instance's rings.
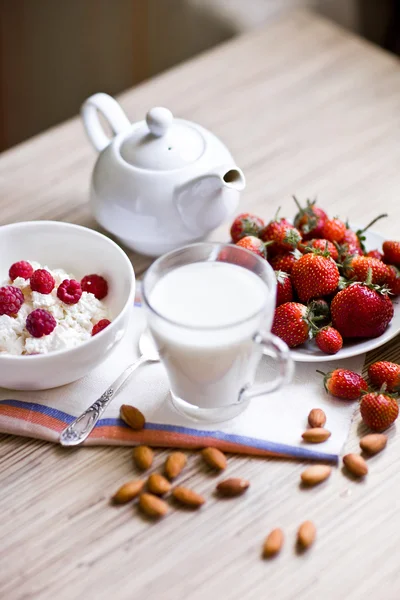
[[[308,13],[236,39],[124,94],[140,119],[153,104],[220,135],[247,175],[242,207],[293,214],[292,193],[318,194],[332,214],[399,238],[400,68],[389,56]],[[87,200],[94,154],[78,119],[0,158],[0,219],[61,219],[94,226]],[[226,239],[227,226],[214,238]],[[132,256],[138,273],[148,259]],[[384,356],[384,352],[375,353]],[[347,451],[356,450],[356,418]],[[178,511],[149,524],[108,506],[132,477],[131,450],[65,452],[0,436],[0,597],[146,600],[276,600],[400,597],[397,554],[400,437],[370,460],[366,481],[337,469],[331,481],[298,487],[302,464],[230,458],[251,493],[200,514]],[[164,454],[159,452],[156,464]],[[211,496],[197,457],[183,478]],[[301,521],[315,547],[294,552]],[[265,534],[286,532],[279,558],[260,560]]]

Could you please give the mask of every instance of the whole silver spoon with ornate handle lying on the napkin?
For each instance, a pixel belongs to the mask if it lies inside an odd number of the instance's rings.
[[[157,348],[154,345],[153,338],[151,337],[148,329],[143,331],[142,335],[140,336],[139,350],[139,359],[132,365],[129,365],[129,367],[127,367],[125,371],[121,373],[114,383],[110,385],[110,387],[102,396],[100,396],[98,400],[96,400],[96,402],[92,404],[92,406],[89,406],[84,413],[77,417],[75,421],[73,421],[61,432],[60,444],[62,446],[78,446],[84,440],[86,440],[90,432],[93,431],[97,421],[100,419],[107,406],[111,404],[111,401],[118,390],[132,375],[132,373],[145,362],[155,362],[160,360]]]

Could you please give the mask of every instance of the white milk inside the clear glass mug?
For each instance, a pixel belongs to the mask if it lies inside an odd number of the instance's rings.
[[[252,338],[270,331],[275,289],[243,267],[200,262],[168,272],[149,300],[164,317],[150,313],[149,326],[173,395],[200,408],[237,402],[254,381],[261,347]]]

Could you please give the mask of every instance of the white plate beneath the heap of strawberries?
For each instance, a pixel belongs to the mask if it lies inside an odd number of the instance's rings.
[[[352,228],[356,229],[356,226],[352,226]],[[375,248],[378,248],[378,250],[382,249],[382,243],[385,241],[385,238],[381,234],[374,231],[367,231],[365,236],[365,246],[367,250],[374,250]],[[400,298],[400,296],[398,298]],[[365,352],[369,352],[374,348],[382,346],[400,333],[400,304],[398,298],[395,297],[393,300],[393,319],[385,333],[379,337],[359,341],[354,340],[351,342],[345,341],[343,348],[339,350],[337,354],[324,354],[317,347],[315,342],[307,342],[307,344],[299,346],[298,348],[290,351],[293,360],[296,362],[326,362],[332,360],[342,360],[344,358],[350,358],[350,356],[364,354]]]

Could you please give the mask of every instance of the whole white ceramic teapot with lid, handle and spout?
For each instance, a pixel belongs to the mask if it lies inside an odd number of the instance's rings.
[[[115,134],[111,140],[98,111]],[[131,124],[107,94],[88,98],[81,114],[100,152],[90,194],[94,216],[129,248],[159,256],[201,239],[237,208],[244,175],[200,125],[161,107]]]

